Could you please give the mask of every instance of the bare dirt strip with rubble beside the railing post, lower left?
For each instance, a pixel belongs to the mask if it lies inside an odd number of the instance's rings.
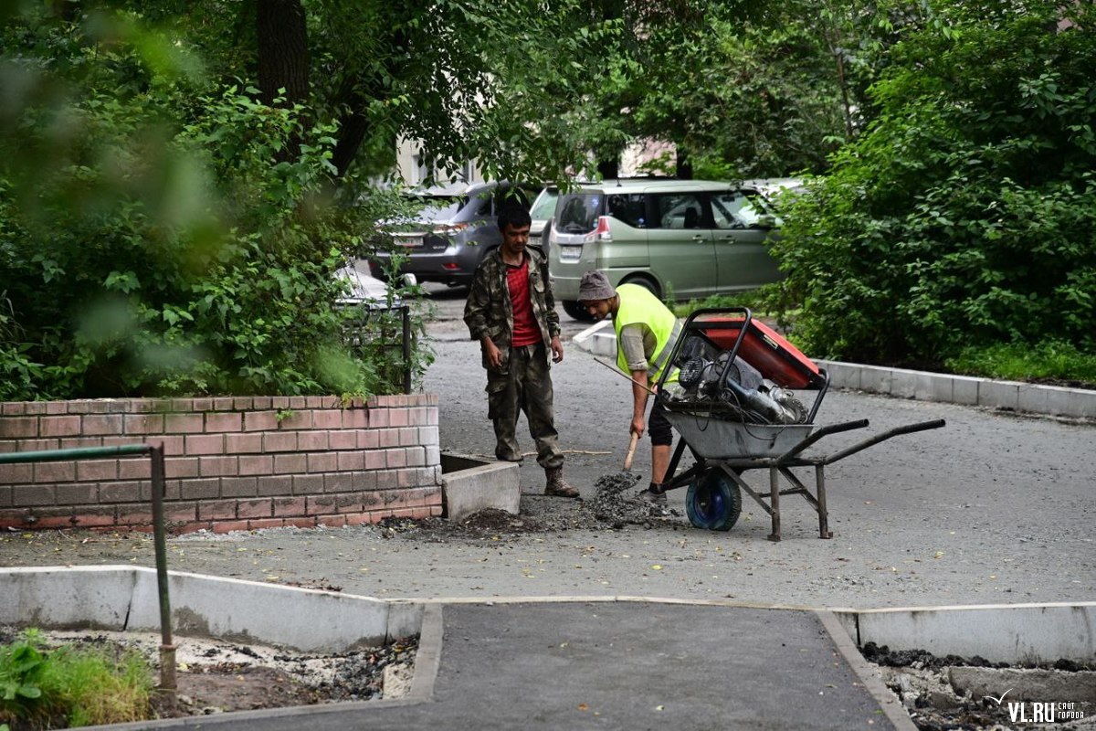
[[[0,628],[0,644],[18,630]],[[76,644],[115,653],[134,649],[146,656],[159,683],[158,635],[146,632],[50,631],[47,646]],[[174,638],[175,703],[153,698],[150,718],[183,718],[239,710],[286,708],[406,695],[413,672],[418,638],[351,652],[313,654],[269,646],[244,646],[198,638]],[[62,728],[54,726],[53,728]],[[33,731],[15,724],[12,731]]]

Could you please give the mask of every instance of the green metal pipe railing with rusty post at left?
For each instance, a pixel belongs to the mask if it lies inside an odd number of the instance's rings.
[[[171,599],[168,596],[168,541],[163,527],[163,447],[151,444],[127,444],[114,447],[81,447],[77,449],[44,449],[0,454],[0,465],[15,462],[68,461],[78,459],[111,459],[148,455],[152,464],[152,536],[156,545],[156,580],[160,595],[160,690],[174,699],[175,646],[171,639]]]

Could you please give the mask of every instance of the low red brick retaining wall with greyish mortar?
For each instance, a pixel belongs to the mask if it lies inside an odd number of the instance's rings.
[[[437,396],[0,403],[0,453],[161,444],[175,533],[442,514]],[[148,457],[0,465],[0,529],[151,530]]]

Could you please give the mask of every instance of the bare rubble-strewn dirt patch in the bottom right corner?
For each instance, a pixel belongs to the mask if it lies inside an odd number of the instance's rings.
[[[1096,729],[1096,704],[1080,698],[1057,697],[1063,679],[1080,673],[1096,671],[1096,663],[1077,663],[1059,660],[1042,665],[1009,665],[993,663],[974,655],[937,658],[924,650],[891,651],[887,646],[868,642],[861,650],[868,662],[879,667],[883,683],[894,693],[918,731],[1021,731],[1024,729],[1055,729],[1057,731],[1093,731]],[[992,696],[974,692],[960,678],[956,669],[980,667],[992,678],[1000,672],[1000,681],[990,681]],[[1005,671],[1024,669],[1032,671],[1026,690],[1013,689]],[[1088,685],[1086,676],[1081,683]],[[1043,689],[1039,689],[1039,688]],[[1002,696],[1001,694],[1004,694]],[[1009,695],[1011,694],[1011,695]],[[1027,694],[1027,695],[1025,695]],[[1028,697],[1034,694],[1034,697]],[[1014,704],[1011,706],[1011,703]],[[1019,704],[1024,703],[1021,707]],[[1041,723],[1035,720],[1034,704],[1053,703],[1055,720]],[[1066,716],[1066,712],[1069,713]],[[1015,719],[1014,719],[1015,715]],[[1026,719],[1026,720],[1021,720]]]

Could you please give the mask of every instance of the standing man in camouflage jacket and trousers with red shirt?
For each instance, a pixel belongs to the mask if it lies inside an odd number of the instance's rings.
[[[526,247],[530,222],[521,206],[509,204],[500,210],[502,245],[476,270],[465,324],[483,353],[495,457],[522,461],[515,432],[517,414],[524,411],[537,445],[537,464],[545,469],[545,494],[578,498],[579,491],[563,480],[563,453],[552,411],[548,352],[553,363],[563,359],[559,315],[547,262],[538,250]]]

